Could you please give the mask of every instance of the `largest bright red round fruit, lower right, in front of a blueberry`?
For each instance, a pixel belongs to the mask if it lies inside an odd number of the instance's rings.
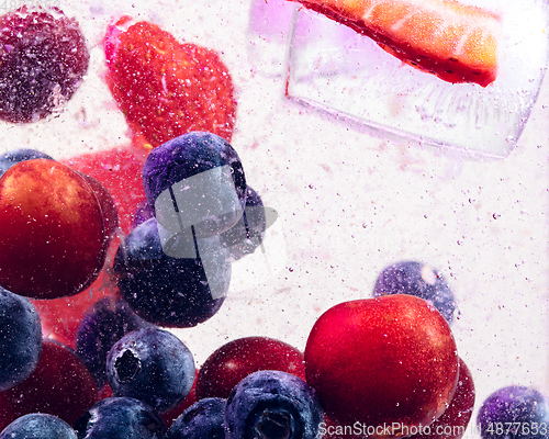
[[[376,428],[372,437],[396,437],[401,427],[429,425],[444,413],[459,365],[440,313],[422,299],[395,294],[325,312],[309,336],[305,370],[337,424],[359,421]]]

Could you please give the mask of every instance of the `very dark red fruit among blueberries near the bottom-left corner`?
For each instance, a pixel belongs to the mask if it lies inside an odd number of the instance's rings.
[[[31,376],[0,392],[0,430],[30,413],[48,413],[74,426],[98,401],[96,382],[80,359],[64,346],[45,340]]]

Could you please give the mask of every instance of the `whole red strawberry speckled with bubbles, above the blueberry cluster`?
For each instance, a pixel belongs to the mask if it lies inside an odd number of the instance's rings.
[[[231,140],[236,101],[228,70],[208,48],[179,43],[155,24],[128,18],[104,38],[107,83],[135,140],[154,148],[191,131]]]

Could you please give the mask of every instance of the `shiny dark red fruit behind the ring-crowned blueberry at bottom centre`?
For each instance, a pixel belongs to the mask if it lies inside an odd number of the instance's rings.
[[[305,380],[303,353],[268,337],[245,337],[222,346],[202,364],[197,379],[197,399],[227,398],[243,379],[260,370],[278,370]]]

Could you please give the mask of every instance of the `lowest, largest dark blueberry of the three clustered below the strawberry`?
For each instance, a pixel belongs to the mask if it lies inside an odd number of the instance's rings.
[[[169,245],[177,248],[182,240],[180,236]],[[215,251],[175,258],[166,255],[155,218],[130,233],[113,269],[123,297],[137,315],[159,326],[190,327],[220,309],[231,282],[228,250],[223,252],[219,236],[201,241],[214,241]],[[187,244],[195,247],[192,240]]]

